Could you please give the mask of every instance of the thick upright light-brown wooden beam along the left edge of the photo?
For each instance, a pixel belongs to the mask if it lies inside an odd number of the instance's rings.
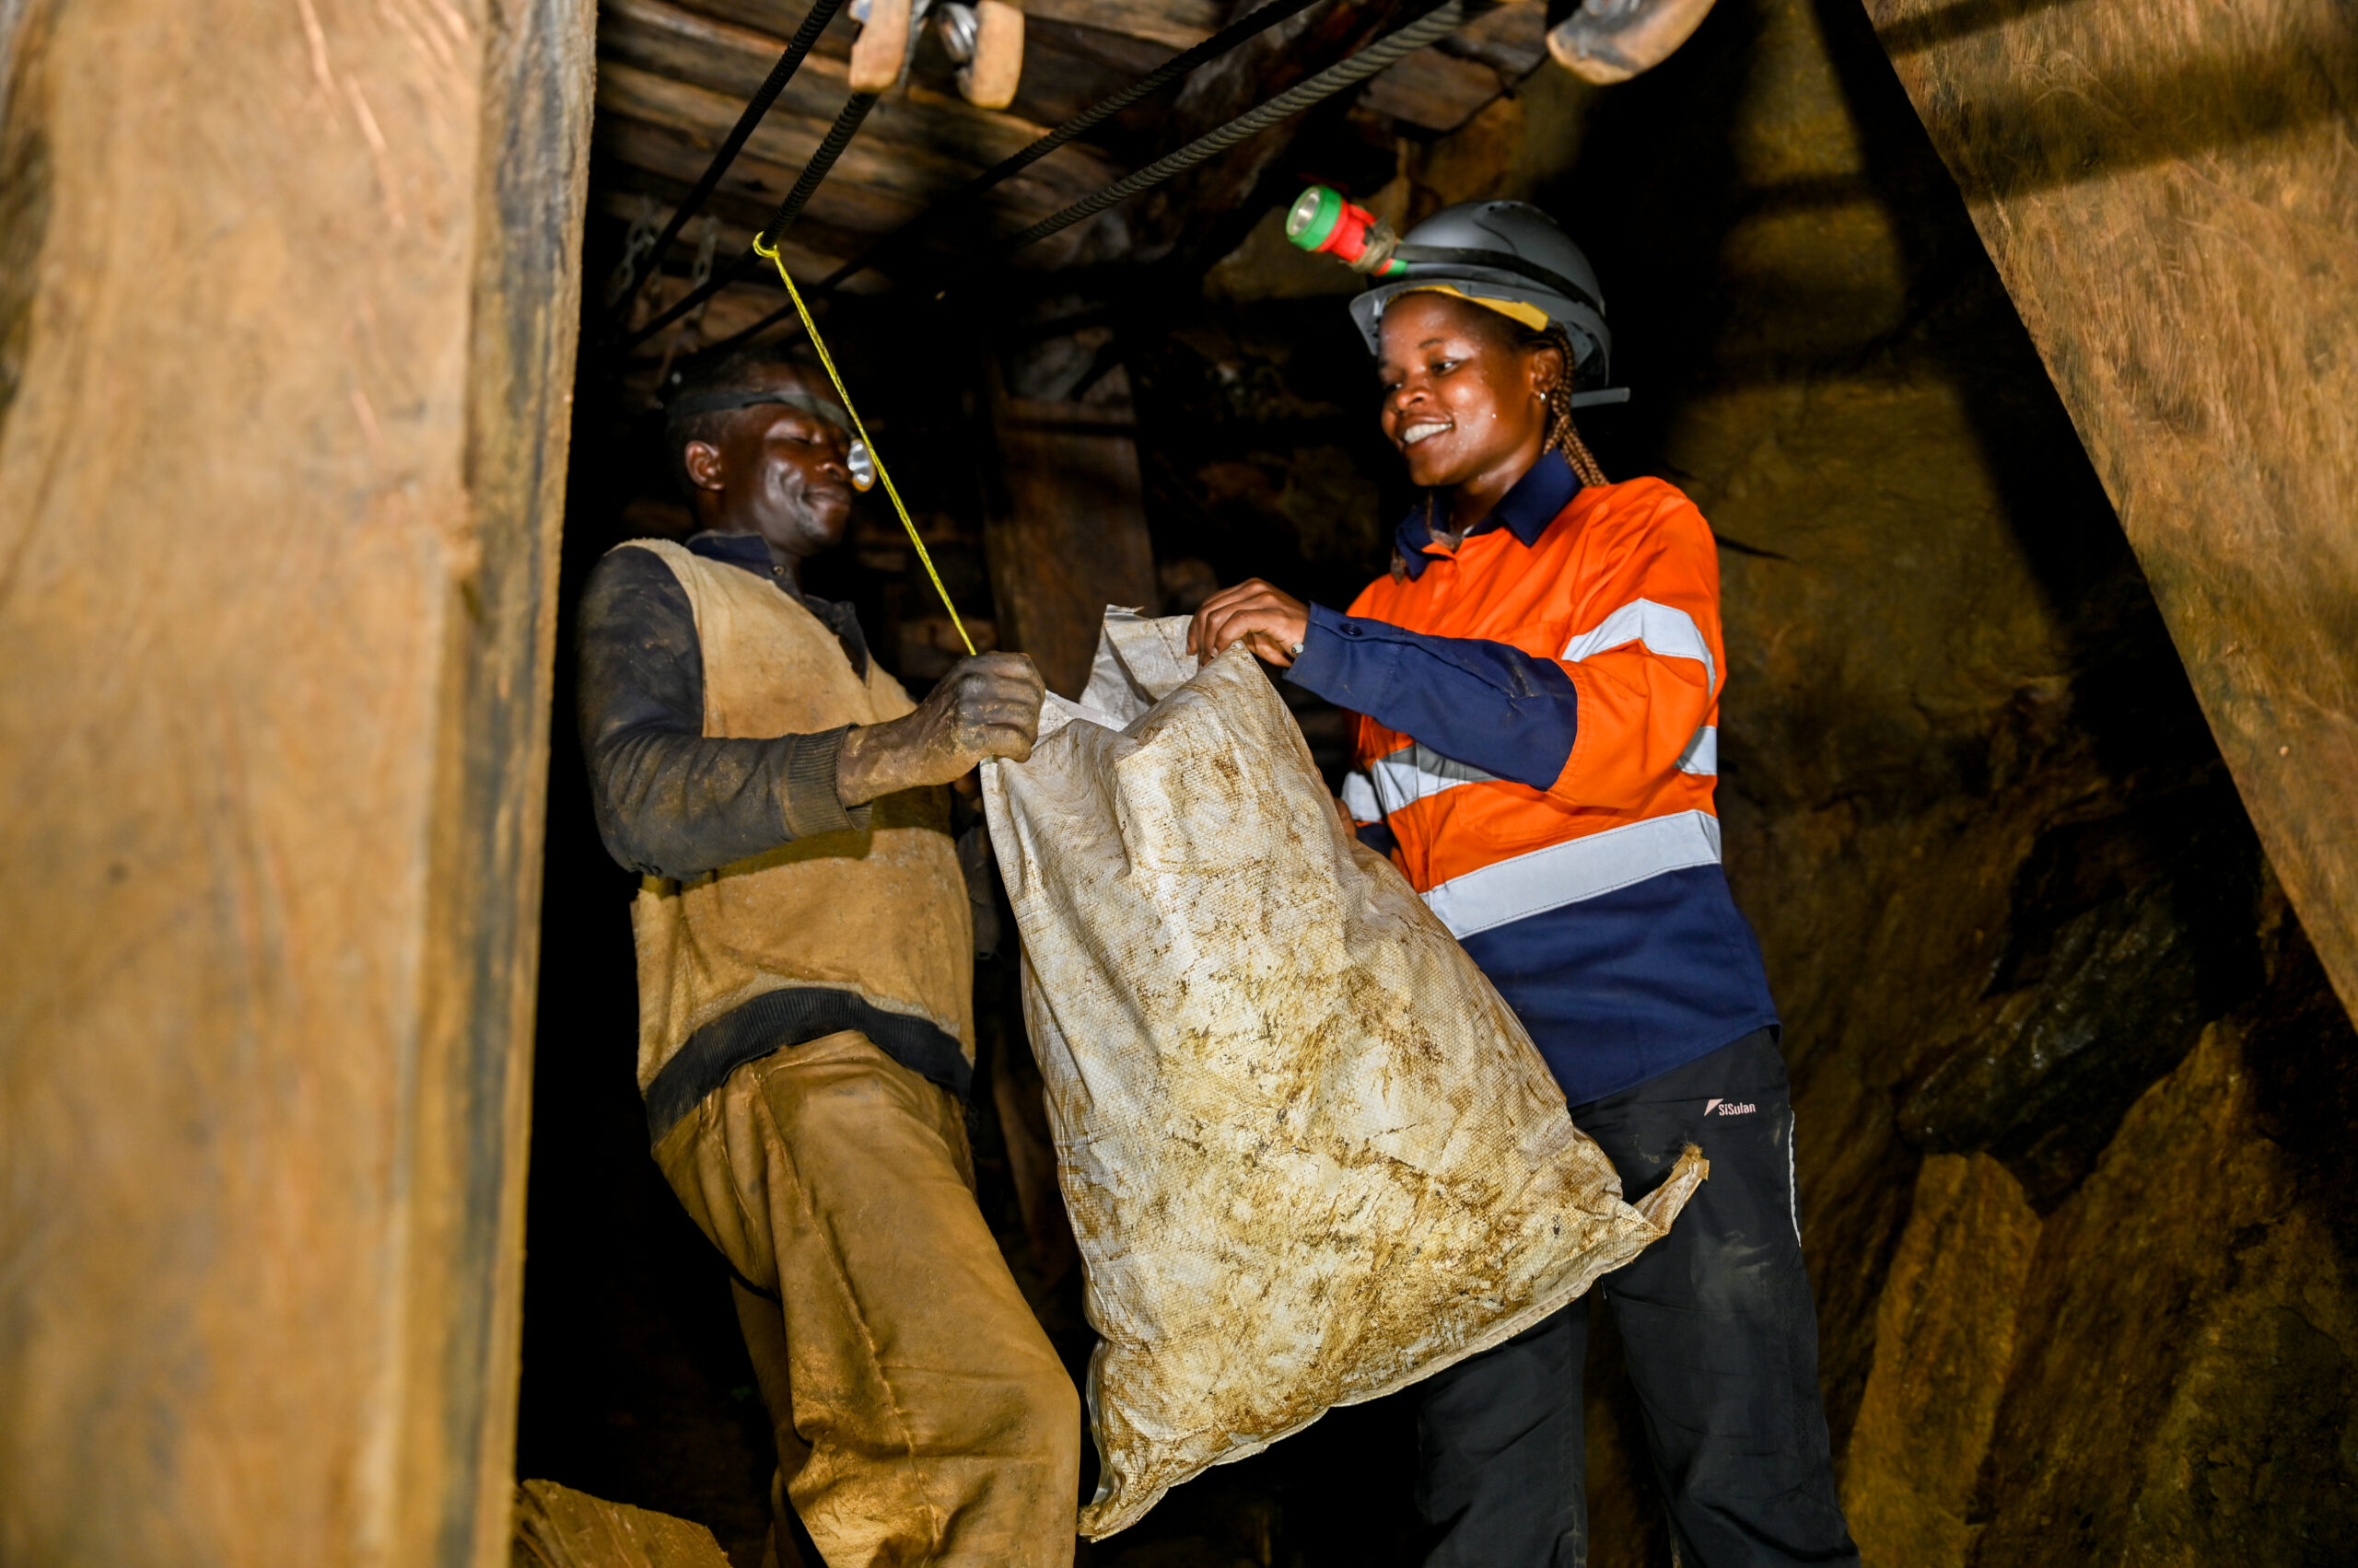
[[[505,1566],[592,7],[0,28],[0,1556]]]

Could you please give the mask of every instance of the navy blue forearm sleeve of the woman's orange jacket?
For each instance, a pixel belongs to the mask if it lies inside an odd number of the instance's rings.
[[[1453,762],[1533,790],[1573,757],[1580,698],[1552,658],[1481,637],[1427,637],[1313,604],[1285,679]]]

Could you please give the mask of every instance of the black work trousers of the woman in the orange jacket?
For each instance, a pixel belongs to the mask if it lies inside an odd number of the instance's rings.
[[[1573,1108],[1632,1198],[1686,1144],[1712,1174],[1669,1236],[1589,1297],[1417,1384],[1427,1568],[1585,1568],[1580,1372],[1613,1311],[1684,1568],[1858,1563],[1818,1401],[1792,1101],[1771,1030]]]

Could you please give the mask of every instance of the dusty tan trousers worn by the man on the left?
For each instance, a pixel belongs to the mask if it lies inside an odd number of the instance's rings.
[[[743,1280],[828,1568],[1073,1561],[1080,1396],[974,1207],[957,1099],[847,1030],[738,1066],[656,1160]]]

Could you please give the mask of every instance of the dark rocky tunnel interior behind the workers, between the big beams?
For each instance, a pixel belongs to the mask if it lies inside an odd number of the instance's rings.
[[[1316,116],[1247,210],[1207,215],[1214,255],[948,304],[837,297],[828,332],[962,613],[995,618],[986,363],[1028,396],[1129,401],[1162,611],[1254,575],[1342,606],[1384,568],[1410,490],[1375,429],[1349,278],[1271,229],[1313,179],[1410,217],[1497,193],[1554,212],[1603,281],[1615,380],[1634,389],[1582,417],[1589,443],[1615,479],[1686,488],[1719,533],[1719,809],[1785,1016],[1846,1507],[1912,1540],[1910,1509],[1948,1488],[1981,1530],[1957,1561],[1978,1563],[2141,1561],[2155,1533],[2212,1542],[2209,1561],[2337,1561],[2358,1516],[2358,1337],[2346,1297],[2304,1309],[2301,1292],[2358,1245],[2358,1042],[1863,9],[1724,0],[1651,75],[1596,94],[1542,73],[1445,137]],[[590,278],[618,245],[620,224],[592,217]],[[646,1155],[634,879],[599,846],[571,731],[587,568],[684,528],[644,382],[599,347],[594,297],[590,314],[516,1474],[700,1521],[750,1566],[769,1424],[724,1264]],[[948,667],[880,498],[811,587],[858,606],[913,691]],[[1339,766],[1342,717],[1295,707]],[[1012,948],[979,964],[969,1129],[986,1217],[1080,1375],[1080,1271],[1026,1228],[1000,1125],[997,1080],[1035,1085]],[[1903,1335],[1993,1299],[2011,1313],[2002,1344],[1955,1327],[1941,1394],[1976,1436],[1926,1478],[1931,1460],[1893,1455],[1931,1417],[1879,1368]],[[1660,1563],[1615,1356],[1596,1332],[1592,1561]],[[2125,1377],[2127,1358],[2146,1358],[2134,1386],[2092,1401],[2082,1379]],[[2092,1427],[2122,1436],[2106,1452]],[[2176,1514],[2134,1514],[2162,1445],[2202,1481]],[[1412,1485],[1412,1422],[1377,1401],[1174,1490],[1082,1561],[1415,1563]]]

